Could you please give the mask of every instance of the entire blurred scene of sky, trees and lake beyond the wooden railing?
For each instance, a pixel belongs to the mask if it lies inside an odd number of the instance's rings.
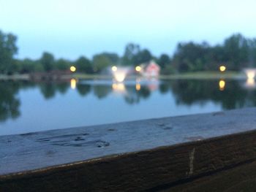
[[[0,134],[254,107],[255,7],[0,0]]]

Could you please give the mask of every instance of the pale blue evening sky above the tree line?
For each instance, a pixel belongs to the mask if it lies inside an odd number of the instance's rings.
[[[91,58],[129,42],[173,55],[178,42],[256,37],[255,0],[0,0],[0,30],[18,36],[18,58]]]

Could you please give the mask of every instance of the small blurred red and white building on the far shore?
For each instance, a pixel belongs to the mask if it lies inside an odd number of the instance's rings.
[[[142,70],[140,74],[146,77],[157,77],[160,73],[160,66],[154,62],[150,61],[148,64],[141,64],[140,65]]]

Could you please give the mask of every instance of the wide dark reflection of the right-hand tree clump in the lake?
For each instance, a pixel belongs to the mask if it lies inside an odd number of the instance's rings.
[[[224,85],[223,82],[221,84]],[[174,93],[177,104],[188,106],[213,101],[221,104],[223,110],[230,110],[249,107],[246,106],[246,99],[251,99],[247,97],[249,90],[235,80],[226,81],[223,91],[219,91],[219,81],[216,80],[176,80],[169,82],[169,89]]]

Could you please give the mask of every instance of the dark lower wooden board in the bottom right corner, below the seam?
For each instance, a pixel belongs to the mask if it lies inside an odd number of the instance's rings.
[[[161,192],[255,192],[256,191],[256,161],[236,166],[222,172],[199,177],[187,183],[182,183]]]

